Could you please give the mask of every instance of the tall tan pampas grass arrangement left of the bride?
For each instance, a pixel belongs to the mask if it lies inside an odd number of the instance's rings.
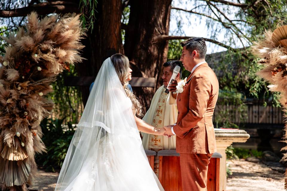
[[[8,38],[0,57],[0,190],[27,190],[36,173],[35,153],[45,152],[39,126],[53,103],[50,83],[81,62],[79,15],[39,20],[32,12],[25,27]]]

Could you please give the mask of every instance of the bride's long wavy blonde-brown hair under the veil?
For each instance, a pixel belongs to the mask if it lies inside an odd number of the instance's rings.
[[[139,116],[143,116],[142,105],[138,98],[129,90],[127,78],[129,76],[129,59],[123,54],[117,53],[111,56],[112,63],[115,67],[117,76],[123,85],[126,95],[132,101],[132,109],[136,111]]]

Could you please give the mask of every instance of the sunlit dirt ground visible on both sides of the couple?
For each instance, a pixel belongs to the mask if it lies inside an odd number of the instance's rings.
[[[233,175],[227,178],[226,191],[284,191],[282,168],[243,159],[230,160],[228,164]],[[39,170],[39,176],[29,190],[54,191],[58,175],[57,172]]]

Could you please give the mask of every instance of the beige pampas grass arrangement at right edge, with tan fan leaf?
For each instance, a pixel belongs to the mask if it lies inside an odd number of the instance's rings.
[[[280,92],[280,103],[283,111],[287,113],[287,25],[278,27],[273,32],[265,31],[265,38],[259,42],[255,42],[252,50],[253,54],[260,58],[260,63],[265,67],[257,74],[265,78],[269,85],[269,90]],[[287,114],[285,118],[285,135],[283,141],[287,143]],[[281,151],[287,151],[287,146]],[[281,161],[287,161],[287,153],[283,154]],[[285,189],[287,190],[287,171],[285,172]]]

